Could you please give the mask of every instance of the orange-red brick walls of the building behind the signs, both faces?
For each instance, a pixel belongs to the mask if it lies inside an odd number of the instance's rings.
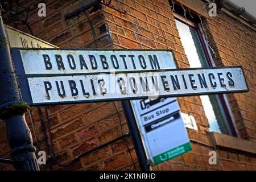
[[[171,6],[167,0],[113,0],[112,5],[114,8],[101,6],[98,10],[86,10],[86,12],[82,12],[71,19],[64,20],[64,15],[77,9],[81,2],[47,1],[49,9],[46,18],[39,18],[36,15],[36,3],[24,1],[24,6],[31,7],[30,25],[34,34],[38,38],[51,42],[56,46],[173,49],[177,65],[180,68],[189,67],[175,25],[174,15],[171,13]],[[187,9],[187,7],[185,8]],[[121,11],[124,13],[121,13]],[[224,20],[226,22],[223,22]],[[218,55],[215,59],[216,65],[241,64],[245,68],[249,88],[252,91],[243,94],[228,94],[227,97],[241,137],[255,139],[255,81],[253,79],[255,72],[251,72],[250,69],[251,66],[255,68],[255,51],[253,51],[253,49],[255,50],[255,34],[250,30],[246,30],[246,34],[241,31],[241,48],[237,46],[237,40],[230,38],[231,42],[227,44],[228,41],[224,41],[226,40],[225,37],[220,36],[222,31],[237,35],[238,32],[231,27],[231,24],[233,24],[233,27],[236,26],[236,22],[232,19],[221,14],[218,18],[203,19],[203,22],[204,27],[207,27],[210,45]],[[96,32],[95,41],[90,24],[92,24]],[[246,29],[241,24],[239,26]],[[20,29],[28,32],[25,27],[20,27]],[[224,34],[222,35],[225,36]],[[152,169],[256,170],[255,155],[213,146],[209,135],[206,133],[206,131],[209,131],[209,123],[205,117],[200,97],[180,97],[178,101],[181,111],[192,115],[196,119],[197,127],[199,128],[198,131],[187,129],[188,137],[191,139],[192,151],[159,164]],[[246,104],[246,102],[250,104]],[[114,104],[117,109],[115,109]],[[43,107],[42,111],[44,111]],[[61,163],[69,162],[81,152],[119,137],[121,129],[118,114],[122,120],[123,133],[128,131],[121,102],[49,106],[48,111],[51,118],[53,144],[57,159]],[[43,113],[43,116],[45,119],[45,113]],[[42,150],[46,150],[37,108],[32,108],[32,119],[40,147]],[[5,137],[5,126],[3,122],[0,123],[0,155],[8,156],[9,148]],[[28,116],[27,123],[31,127]],[[126,137],[125,140],[129,150],[127,150],[126,143],[122,139],[83,156],[72,166],[63,168],[53,163],[53,169],[138,170],[138,160],[133,143],[130,138]],[[208,153],[211,150],[217,151],[217,165],[209,165],[208,163]],[[2,169],[11,168],[8,165],[1,164],[1,166]]]

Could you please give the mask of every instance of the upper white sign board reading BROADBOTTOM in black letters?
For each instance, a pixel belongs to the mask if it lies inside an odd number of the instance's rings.
[[[139,72],[173,68],[172,51],[21,49],[27,75]]]

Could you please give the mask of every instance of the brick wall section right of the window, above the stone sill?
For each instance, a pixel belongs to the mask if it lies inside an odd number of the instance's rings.
[[[255,32],[220,14],[204,19],[210,45],[216,51],[217,66],[242,65],[250,92],[227,94],[237,129],[242,138],[256,140]]]

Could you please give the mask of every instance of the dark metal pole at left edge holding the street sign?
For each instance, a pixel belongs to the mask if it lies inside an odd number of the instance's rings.
[[[0,12],[0,119],[6,123],[11,157],[17,162],[14,164],[15,169],[37,171],[39,166],[35,156],[35,147],[32,146],[31,132],[24,117],[28,109],[28,104],[22,101],[19,93]]]

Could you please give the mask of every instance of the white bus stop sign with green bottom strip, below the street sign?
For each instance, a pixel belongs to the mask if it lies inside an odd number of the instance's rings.
[[[191,151],[176,98],[131,103],[151,166]]]

